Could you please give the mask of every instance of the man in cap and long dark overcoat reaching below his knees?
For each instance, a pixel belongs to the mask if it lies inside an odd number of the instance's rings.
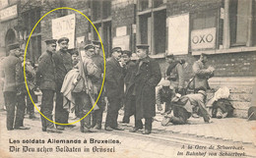
[[[152,132],[153,117],[156,116],[156,86],[160,82],[160,65],[149,57],[149,45],[137,45],[139,61],[136,63],[134,76],[134,93],[136,97],[135,127],[130,132],[143,129],[143,134]]]

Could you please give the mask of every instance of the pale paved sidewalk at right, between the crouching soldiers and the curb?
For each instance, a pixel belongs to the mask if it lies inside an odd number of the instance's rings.
[[[130,118],[130,124],[122,124],[123,115],[119,113],[118,122],[123,127],[134,126],[134,117]],[[247,122],[246,119],[224,118],[215,119],[213,123],[205,124],[203,118],[190,118],[188,125],[172,125],[169,123],[162,127],[160,122],[163,115],[157,114],[153,123],[153,132],[172,132],[195,137],[223,139],[243,144],[251,144],[256,147],[256,121]],[[104,119],[103,119],[104,121]]]

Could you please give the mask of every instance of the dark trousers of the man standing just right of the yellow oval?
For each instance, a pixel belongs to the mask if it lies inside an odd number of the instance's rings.
[[[112,129],[117,128],[118,111],[121,109],[122,98],[107,98],[109,105],[107,107],[107,114],[105,119],[105,128],[110,127]]]

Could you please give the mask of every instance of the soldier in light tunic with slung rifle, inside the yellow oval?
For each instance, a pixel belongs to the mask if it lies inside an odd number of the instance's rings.
[[[94,45],[86,45],[84,58],[82,58],[80,60],[80,63],[78,64],[80,79],[77,79],[77,81],[75,81],[75,88],[73,89],[73,93],[80,119],[82,119],[89,113],[96,99],[95,96],[97,94],[97,87],[92,79],[99,78],[100,74],[98,74],[98,68],[92,60],[94,53]],[[88,116],[81,120],[80,123],[81,132],[94,132],[90,130],[92,128],[91,114],[88,114]]]

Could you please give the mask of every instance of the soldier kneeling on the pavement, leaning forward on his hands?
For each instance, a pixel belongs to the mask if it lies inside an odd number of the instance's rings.
[[[195,94],[187,94],[181,97],[177,95],[171,100],[173,102],[173,111],[166,115],[162,120],[161,125],[166,126],[168,123],[174,125],[187,124],[187,120],[192,115],[192,108],[198,108],[198,115],[204,118],[205,123],[210,123],[210,115],[205,109],[206,92],[199,90]]]

